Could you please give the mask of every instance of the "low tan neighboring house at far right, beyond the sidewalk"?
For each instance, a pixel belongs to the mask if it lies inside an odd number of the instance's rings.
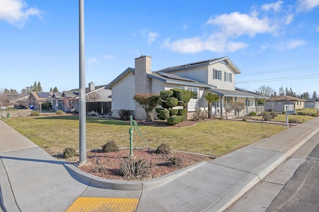
[[[292,96],[272,96],[266,99],[266,110],[284,112],[286,110],[298,110],[306,107],[307,100]],[[314,103],[315,106],[315,103]]]

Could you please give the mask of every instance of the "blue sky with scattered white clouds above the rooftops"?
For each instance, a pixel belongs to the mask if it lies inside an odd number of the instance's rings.
[[[0,89],[79,87],[78,0],[0,0]],[[236,86],[319,92],[319,0],[85,0],[86,86],[228,56]]]

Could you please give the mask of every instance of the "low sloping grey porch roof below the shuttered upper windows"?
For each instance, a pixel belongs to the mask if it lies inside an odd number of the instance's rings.
[[[269,99],[269,96],[261,95],[260,93],[255,93],[253,91],[244,90],[241,88],[235,88],[235,90],[223,90],[223,89],[216,89],[216,88],[209,88],[206,89],[210,92],[216,93],[219,96],[232,96],[232,97],[247,97],[247,98],[263,98]]]

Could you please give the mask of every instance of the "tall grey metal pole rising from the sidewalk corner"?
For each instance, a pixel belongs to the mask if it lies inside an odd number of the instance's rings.
[[[79,162],[86,163],[86,105],[85,105],[85,69],[84,69],[84,0],[79,0]]]

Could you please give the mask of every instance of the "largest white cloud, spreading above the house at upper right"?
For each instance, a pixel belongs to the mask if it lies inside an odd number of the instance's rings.
[[[227,53],[245,49],[249,43],[246,41],[247,38],[243,38],[245,39],[243,41],[240,38],[242,36],[255,37],[258,34],[278,36],[285,33],[285,27],[293,21],[294,15],[289,6],[283,7],[283,3],[279,0],[264,4],[260,8],[252,7],[250,13],[232,12],[213,16],[206,21],[206,29],[202,35],[175,41],[168,38],[161,47],[178,53],[202,51]],[[260,14],[261,11],[264,12]],[[266,49],[266,46],[261,47],[262,51]]]

